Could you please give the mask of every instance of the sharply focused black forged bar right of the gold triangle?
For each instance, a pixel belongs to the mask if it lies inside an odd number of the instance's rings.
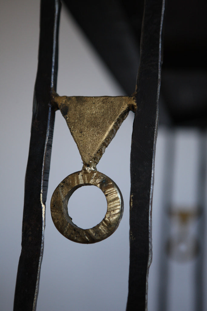
[[[131,146],[130,264],[127,311],[147,310],[148,273],[152,260],[151,207],[160,92],[161,33],[164,0],[146,0],[137,110]]]

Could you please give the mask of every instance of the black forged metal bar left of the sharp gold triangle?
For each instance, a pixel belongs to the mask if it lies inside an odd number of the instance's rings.
[[[60,7],[59,0],[41,1],[38,70],[25,175],[22,250],[16,279],[14,311],[35,311],[37,304],[55,120],[51,98],[52,91],[56,91]]]

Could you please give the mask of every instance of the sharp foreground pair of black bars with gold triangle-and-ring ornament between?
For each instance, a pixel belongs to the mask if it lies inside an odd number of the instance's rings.
[[[71,5],[74,3],[76,2],[70,1]],[[43,258],[45,202],[52,135],[55,110],[60,109],[80,151],[83,169],[69,175],[60,183],[58,190],[55,191],[56,197],[55,194],[52,197],[52,214],[56,214],[54,217],[56,222],[60,221],[59,229],[63,230],[64,234],[70,231],[70,238],[81,243],[94,243],[96,233],[100,240],[105,239],[119,225],[123,213],[120,191],[111,179],[97,172],[96,165],[126,118],[128,111],[135,112],[130,158],[130,264],[126,310],[146,311],[147,280],[152,258],[151,211],[162,63],[161,35],[164,0],[145,0],[140,65],[136,90],[130,97],[59,97],[56,94],[60,7],[60,0],[41,0],[38,71],[34,88],[31,138],[25,176],[22,249],[13,310],[36,310]],[[90,10],[92,7],[90,6]],[[96,6],[94,9],[96,10]],[[104,37],[101,38],[103,42]],[[76,178],[78,176],[79,178]],[[67,182],[67,186],[64,181]],[[76,188],[85,184],[95,184],[105,191],[105,195],[108,194],[106,195],[108,202],[106,216],[99,225],[94,227],[95,230],[94,228],[89,230],[78,228],[72,223],[67,213],[66,207],[70,195]],[[58,196],[59,203],[57,202]],[[55,205],[57,205],[56,208]],[[61,226],[64,222],[65,227]],[[70,230],[68,230],[69,227]],[[72,234],[74,229],[77,234]],[[96,231],[95,234],[90,235],[89,233],[93,230]]]

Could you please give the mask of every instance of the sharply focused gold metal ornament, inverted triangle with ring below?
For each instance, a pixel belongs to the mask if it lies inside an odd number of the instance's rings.
[[[61,110],[78,146],[83,168],[67,176],[55,189],[51,199],[51,215],[57,230],[78,243],[96,243],[108,238],[118,228],[124,202],[118,186],[96,169],[101,156],[115,136],[129,110],[136,110],[134,97],[60,97],[54,102]],[[68,201],[82,186],[94,185],[107,201],[104,219],[90,229],[79,228],[68,214]]]

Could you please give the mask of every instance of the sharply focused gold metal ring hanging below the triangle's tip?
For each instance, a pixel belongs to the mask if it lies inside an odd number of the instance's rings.
[[[95,185],[102,190],[107,201],[104,219],[95,227],[81,229],[68,215],[68,200],[74,191],[84,185]],[[97,204],[98,207],[98,204]],[[124,203],[117,185],[106,175],[83,166],[79,172],[67,176],[55,189],[51,199],[51,215],[57,230],[67,239],[78,243],[96,243],[109,237],[122,218]]]

